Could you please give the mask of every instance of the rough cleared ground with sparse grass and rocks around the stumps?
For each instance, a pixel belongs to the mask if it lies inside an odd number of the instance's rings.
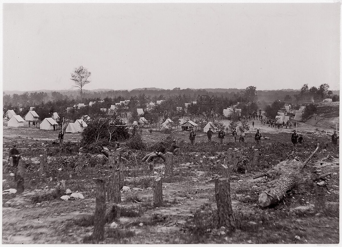
[[[337,119],[338,120],[338,119]],[[326,121],[328,121],[326,119]],[[336,119],[330,119],[330,122]],[[106,224],[105,244],[337,244],[339,243],[339,159],[323,161],[331,152],[330,136],[332,129],[328,125],[314,126],[300,123],[298,132],[304,136],[304,144],[298,147],[296,155],[302,160],[315,149],[317,142],[320,149],[315,161],[310,163],[317,169],[322,164],[329,166],[331,172],[326,190],[326,206],[319,213],[314,212],[314,184],[305,190],[294,188],[285,200],[273,208],[262,208],[258,204],[258,194],[253,190],[263,184],[263,178],[253,180],[253,176],[267,171],[282,160],[282,151],[291,152],[289,129],[273,129],[260,125],[263,136],[260,148],[262,156],[260,167],[253,167],[247,162],[246,173],[234,173],[231,180],[231,198],[236,230],[216,229],[213,222],[215,215],[214,174],[219,170],[212,164],[200,166],[192,162],[183,162],[184,153],[215,157],[224,156],[229,147],[244,150],[246,159],[252,160],[254,133],[259,128],[246,132],[244,144],[232,142],[226,136],[225,146],[220,150],[214,142],[207,144],[206,134],[197,133],[195,147],[186,145],[182,155],[175,156],[174,177],[163,178],[164,205],[153,207],[153,188],[151,179],[155,176],[141,158],[148,150],[128,154],[129,162],[124,163],[124,184],[130,191],[121,193],[122,207],[126,211],[115,222],[117,228]],[[318,129],[318,130],[316,130]],[[328,131],[328,132],[327,132]],[[327,132],[327,134],[326,134]],[[188,133],[173,133],[179,143],[188,143]],[[89,163],[78,176],[73,169],[59,160],[76,156],[80,134],[65,135],[63,149],[57,143],[57,131],[41,131],[34,128],[3,128],[3,190],[15,188],[8,167],[8,151],[12,141],[17,142],[18,150],[27,162],[25,175],[25,194],[3,195],[3,244],[80,244],[93,231],[92,216],[95,211],[94,178],[101,177],[104,167]],[[168,134],[154,131],[151,135],[145,129],[143,140],[151,146],[165,140]],[[184,142],[183,142],[184,141]],[[55,143],[54,143],[55,142]],[[185,144],[183,144],[185,146]],[[49,168],[47,177],[39,179],[37,158],[42,149],[48,150]],[[148,149],[148,148],[147,148]],[[96,154],[89,154],[95,156]],[[136,155],[135,164],[133,155]],[[338,154],[334,154],[338,157]],[[30,158],[31,160],[28,160]],[[36,159],[35,159],[36,158]],[[60,158],[60,159],[57,159]],[[131,159],[130,159],[131,158]],[[163,171],[164,164],[157,162],[155,171]],[[84,199],[63,201],[61,194],[53,189],[62,179],[66,187],[73,192],[80,192]],[[254,186],[254,187],[253,187]],[[107,203],[107,209],[111,208]],[[141,224],[142,223],[142,224]],[[299,236],[299,237],[298,237]]]

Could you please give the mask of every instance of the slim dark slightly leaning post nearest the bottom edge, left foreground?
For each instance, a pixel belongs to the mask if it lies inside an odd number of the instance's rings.
[[[94,231],[92,239],[95,242],[103,241],[106,223],[106,191],[105,179],[96,179],[96,206],[94,214]]]

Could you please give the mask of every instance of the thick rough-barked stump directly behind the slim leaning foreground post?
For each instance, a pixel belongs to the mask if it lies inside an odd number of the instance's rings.
[[[120,169],[115,169],[117,159],[113,153],[109,153],[109,178],[107,182],[107,200],[108,202],[120,203]]]

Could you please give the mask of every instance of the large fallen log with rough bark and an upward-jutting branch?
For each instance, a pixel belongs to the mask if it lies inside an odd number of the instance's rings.
[[[302,163],[296,157],[281,161],[273,169],[267,171],[269,181],[263,187],[262,193],[259,196],[259,204],[262,207],[269,207],[279,203],[286,194],[300,183],[305,183],[308,178],[312,181],[312,172],[303,170],[310,158],[316,153],[319,145],[317,144],[316,150],[310,157]],[[291,155],[290,155],[291,156]],[[311,169],[311,167],[307,168]],[[265,175],[262,174],[262,175]],[[259,177],[259,176],[258,176]],[[256,177],[255,177],[256,178]]]

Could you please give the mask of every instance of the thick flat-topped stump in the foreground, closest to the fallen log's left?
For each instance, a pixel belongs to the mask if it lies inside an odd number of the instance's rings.
[[[215,181],[215,199],[218,213],[218,226],[235,229],[229,178],[218,178]]]

